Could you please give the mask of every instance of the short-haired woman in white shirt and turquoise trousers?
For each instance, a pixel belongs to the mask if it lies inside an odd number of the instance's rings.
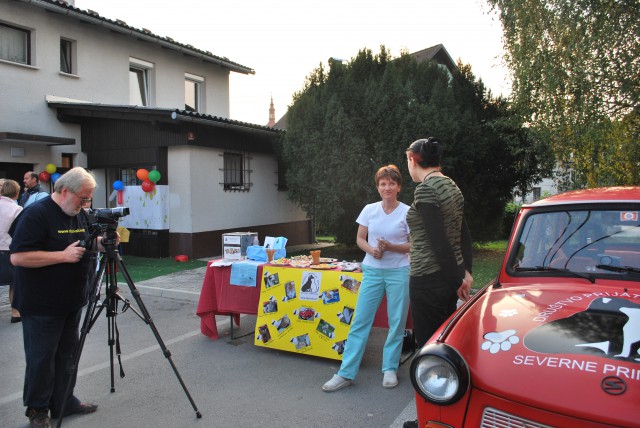
[[[375,175],[382,199],[364,207],[357,244],[366,255],[362,261],[362,284],[355,315],[340,370],[322,389],[333,392],[351,385],[358,374],[373,320],[382,298],[387,296],[389,332],[382,351],[382,386],[398,385],[396,371],[400,365],[404,328],[409,310],[409,206],[398,201],[402,174],[395,165],[383,166]]]

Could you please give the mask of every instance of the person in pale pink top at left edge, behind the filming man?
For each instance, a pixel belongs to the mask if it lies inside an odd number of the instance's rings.
[[[9,285],[9,303],[11,303],[11,322],[21,321],[20,312],[13,307],[13,265],[9,260],[9,228],[22,207],[16,203],[20,194],[20,185],[15,180],[3,179],[0,184],[0,285]]]

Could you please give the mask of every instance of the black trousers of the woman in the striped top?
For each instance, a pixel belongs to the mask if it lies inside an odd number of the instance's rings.
[[[447,282],[441,271],[409,278],[413,334],[418,349],[455,312],[459,287],[460,284]]]

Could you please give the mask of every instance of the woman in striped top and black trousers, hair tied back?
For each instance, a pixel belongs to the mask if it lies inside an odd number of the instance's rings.
[[[407,167],[419,183],[407,212],[411,229],[409,296],[418,348],[467,300],[473,277],[471,235],[464,219],[464,197],[442,173],[442,143],[429,137],[406,151]],[[403,428],[418,427],[406,421]]]

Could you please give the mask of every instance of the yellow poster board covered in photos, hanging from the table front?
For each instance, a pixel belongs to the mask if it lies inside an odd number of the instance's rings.
[[[342,360],[361,272],[265,265],[254,344]]]

